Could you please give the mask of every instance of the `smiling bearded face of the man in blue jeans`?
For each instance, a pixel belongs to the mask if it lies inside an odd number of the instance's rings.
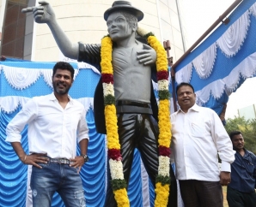
[[[69,70],[57,69],[56,74],[52,77],[54,92],[64,95],[69,92],[73,79]]]

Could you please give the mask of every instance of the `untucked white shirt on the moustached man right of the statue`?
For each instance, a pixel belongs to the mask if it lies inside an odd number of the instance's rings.
[[[230,172],[235,151],[214,110],[194,104],[187,113],[179,109],[172,114],[171,122],[171,162],[175,161],[177,180],[220,180],[217,153],[222,171]]]

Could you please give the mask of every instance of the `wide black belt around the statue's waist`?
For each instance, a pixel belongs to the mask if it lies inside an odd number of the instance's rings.
[[[149,114],[152,115],[150,103],[136,102],[136,101],[117,101],[116,109],[118,114]]]

